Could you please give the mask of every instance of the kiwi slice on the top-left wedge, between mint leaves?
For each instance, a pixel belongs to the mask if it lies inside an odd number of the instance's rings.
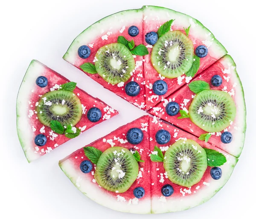
[[[135,68],[131,52],[121,43],[102,46],[95,58],[96,71],[110,84],[128,81]]]

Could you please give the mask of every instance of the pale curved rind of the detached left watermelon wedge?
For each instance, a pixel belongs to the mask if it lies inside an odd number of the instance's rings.
[[[20,85],[20,89],[17,95],[17,104],[16,104],[16,124],[17,124],[17,134],[20,140],[21,147],[24,151],[27,161],[30,163],[36,158],[39,157],[38,154],[34,153],[34,151],[30,150],[32,147],[29,147],[30,144],[28,142],[31,141],[33,135],[31,127],[28,123],[27,116],[27,103],[29,101],[31,90],[33,89],[31,85],[35,84],[36,78],[38,76],[43,75],[44,66],[36,60],[32,60],[29,64],[28,69],[26,70],[26,74],[22,80]],[[25,100],[27,98],[27,100]],[[23,104],[24,103],[24,104]],[[26,118],[23,118],[26,117]],[[23,120],[22,120],[23,119]],[[30,130],[30,132],[28,131]],[[31,138],[30,138],[31,137]]]

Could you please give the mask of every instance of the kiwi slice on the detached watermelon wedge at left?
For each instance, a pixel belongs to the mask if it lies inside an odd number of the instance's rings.
[[[50,126],[52,120],[58,120],[63,126],[76,125],[82,116],[80,99],[69,90],[55,90],[44,94],[36,107],[39,121]]]

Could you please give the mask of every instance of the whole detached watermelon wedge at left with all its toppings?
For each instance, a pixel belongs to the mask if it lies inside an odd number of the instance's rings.
[[[17,133],[29,162],[118,112],[33,60],[17,96]]]

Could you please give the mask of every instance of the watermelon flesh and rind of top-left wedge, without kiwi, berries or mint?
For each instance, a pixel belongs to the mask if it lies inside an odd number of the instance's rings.
[[[142,19],[143,10],[138,9],[119,12],[99,20],[76,37],[66,54],[63,56],[64,60],[68,61],[79,69],[81,69],[80,66],[83,63],[90,62],[94,64],[95,55],[98,49],[106,44],[117,43],[117,38],[119,36],[123,36],[129,41],[134,40],[135,46],[142,44],[144,39]],[[131,37],[128,35],[128,28],[130,26],[137,26],[140,31],[139,35],[136,37]],[[89,46],[91,50],[89,58],[83,59],[79,57],[78,49],[82,45]],[[94,81],[97,81],[99,84],[104,86],[106,89],[109,89],[116,95],[119,95],[121,98],[124,98],[140,109],[145,109],[145,82],[143,72],[144,60],[142,56],[134,55],[134,57],[136,62],[135,70],[133,71],[131,78],[125,83],[120,82],[119,84],[112,85],[98,74],[90,74],[87,72],[84,73]],[[125,93],[125,85],[130,81],[135,81],[140,85],[140,93],[135,97],[128,96]]]

